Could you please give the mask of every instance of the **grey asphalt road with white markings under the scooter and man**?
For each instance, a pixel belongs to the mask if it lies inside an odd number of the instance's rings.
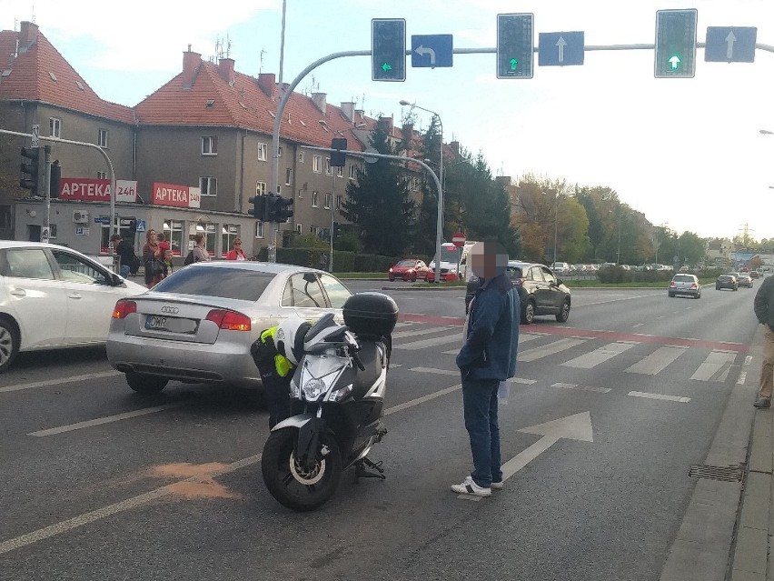
[[[449,490],[471,470],[464,293],[394,286],[411,320],[372,452],[388,478],[347,474],[312,514],[266,492],[251,394],[173,382],[144,398],[102,349],[21,356],[0,376],[0,579],[658,579],[689,468],[750,365],[756,289],[579,290],[566,324],[521,326],[511,476],[471,501]]]

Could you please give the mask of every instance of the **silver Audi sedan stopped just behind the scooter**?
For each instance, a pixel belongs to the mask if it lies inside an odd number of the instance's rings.
[[[335,276],[262,262],[200,262],[115,305],[107,358],[142,394],[171,379],[260,386],[250,347],[285,317],[317,319],[352,296]]]

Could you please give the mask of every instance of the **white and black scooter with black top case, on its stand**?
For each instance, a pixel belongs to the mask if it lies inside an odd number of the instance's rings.
[[[271,495],[293,510],[322,506],[350,466],[356,478],[385,478],[382,463],[367,456],[387,432],[381,418],[398,306],[381,293],[361,293],[343,315],[345,326],[329,314],[313,326],[283,322],[275,336],[297,365],[290,386],[296,415],[273,427],[261,465]]]

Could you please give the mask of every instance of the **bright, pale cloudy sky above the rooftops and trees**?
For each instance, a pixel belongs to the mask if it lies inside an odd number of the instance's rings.
[[[696,8],[708,26],[755,26],[774,47],[771,0],[286,0],[283,81],[317,59],[371,49],[372,18],[404,18],[412,35],[452,35],[493,48],[498,14],[534,14],[538,34],[583,31],[588,45],[653,44],[656,10]],[[0,26],[34,20],[97,95],[136,105],[180,73],[187,46],[204,58],[220,42],[241,73],[279,75],[282,0],[0,0]],[[411,46],[407,46],[410,48]],[[774,48],[772,48],[774,50]],[[371,80],[368,56],[314,69],[296,91],[355,101],[367,115],[437,113],[446,143],[481,154],[493,175],[538,175],[608,186],[654,225],[702,237],[774,238],[774,52],[754,63],[707,63],[696,75],[653,76],[653,51],[586,51],[580,66],[538,66],[498,79],[494,54],[455,54],[452,67],[412,68],[403,83]],[[418,129],[432,114],[415,109]]]

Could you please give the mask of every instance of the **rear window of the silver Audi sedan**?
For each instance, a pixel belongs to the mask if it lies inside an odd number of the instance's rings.
[[[183,268],[155,285],[154,292],[257,301],[274,276],[242,268]]]

